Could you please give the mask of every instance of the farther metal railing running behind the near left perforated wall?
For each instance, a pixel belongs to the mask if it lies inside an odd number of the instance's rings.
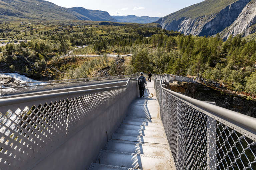
[[[37,81],[26,83],[0,84],[0,98],[21,96],[24,94],[35,94],[38,92],[59,91],[60,89],[75,88],[81,86],[93,86],[97,84],[127,81],[136,78],[138,73],[123,76],[93,77],[68,80]]]

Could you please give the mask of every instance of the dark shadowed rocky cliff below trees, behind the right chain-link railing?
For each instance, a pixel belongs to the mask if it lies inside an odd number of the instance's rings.
[[[170,85],[170,89],[197,100],[215,102],[216,106],[256,118],[256,101],[253,99],[226,94],[203,84],[174,84]]]

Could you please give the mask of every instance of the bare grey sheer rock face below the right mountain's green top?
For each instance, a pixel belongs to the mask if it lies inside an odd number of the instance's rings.
[[[172,17],[172,15],[169,15],[159,19],[156,23],[159,23],[163,29],[179,31],[185,35],[192,34],[198,36],[212,36],[220,33],[225,28],[231,26],[238,19],[238,17],[241,16],[241,13],[243,13],[243,11],[246,11],[249,6],[252,7],[253,4],[255,4],[255,0],[253,0],[253,3],[249,3],[250,1],[251,0],[237,0],[236,2],[231,3],[230,5],[226,6],[225,8],[214,14],[203,15],[196,18],[184,16],[172,20],[170,18]],[[255,11],[255,7],[254,9],[250,9],[249,11]],[[253,12],[244,13],[250,13],[251,18],[253,18]],[[245,17],[244,20],[246,20]],[[240,20],[238,20],[237,22],[239,23],[239,21]],[[232,28],[230,29],[232,30]],[[230,33],[232,33],[232,31],[230,31]]]

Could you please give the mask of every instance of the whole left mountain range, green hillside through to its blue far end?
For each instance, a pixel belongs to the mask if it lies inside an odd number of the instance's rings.
[[[108,12],[63,8],[43,0],[0,0],[0,19],[113,21]]]

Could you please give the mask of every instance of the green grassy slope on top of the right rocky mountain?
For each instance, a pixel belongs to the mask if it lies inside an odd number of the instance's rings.
[[[237,0],[205,0],[198,4],[191,5],[187,8],[183,8],[177,12],[169,14],[163,17],[163,19],[165,19],[166,22],[172,22],[182,17],[190,17],[191,19],[194,19],[200,16],[216,14],[235,1]],[[161,21],[162,20],[159,19],[157,23]]]

